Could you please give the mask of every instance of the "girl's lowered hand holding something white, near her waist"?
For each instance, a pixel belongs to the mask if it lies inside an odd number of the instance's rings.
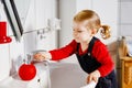
[[[98,82],[99,77],[100,77],[99,70],[95,70],[90,73],[87,77],[87,84],[89,84],[91,80],[94,80],[95,82]]]

